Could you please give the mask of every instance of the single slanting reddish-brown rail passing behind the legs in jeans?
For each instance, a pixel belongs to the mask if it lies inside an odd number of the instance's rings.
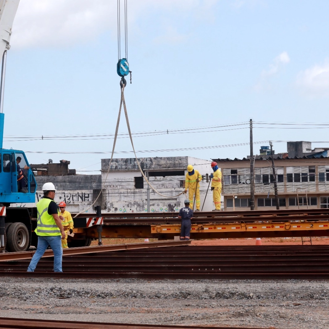
[[[156,242],[141,242],[141,243],[124,243],[124,244],[109,244],[102,246],[89,246],[79,248],[68,248],[63,249],[63,256],[80,255],[80,254],[91,254],[95,252],[108,252],[118,250],[129,250],[129,249],[147,249],[156,247],[171,247],[179,245],[190,244],[191,241],[156,241]],[[23,252],[11,252],[0,254],[0,262],[4,261],[17,261],[23,259],[31,259],[35,254],[36,250],[23,251]],[[52,257],[54,253],[52,250],[46,250],[42,257]]]

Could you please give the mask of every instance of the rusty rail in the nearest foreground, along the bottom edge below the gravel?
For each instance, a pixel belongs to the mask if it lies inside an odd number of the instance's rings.
[[[164,326],[152,324],[131,324],[131,323],[101,323],[101,322],[76,322],[76,321],[55,321],[35,319],[14,319],[0,317],[1,329],[234,329],[237,327],[206,327],[206,326]],[[239,327],[240,329],[251,329],[250,327]],[[253,329],[261,329],[255,328]],[[263,327],[263,329],[265,329]],[[284,328],[282,328],[284,329]]]

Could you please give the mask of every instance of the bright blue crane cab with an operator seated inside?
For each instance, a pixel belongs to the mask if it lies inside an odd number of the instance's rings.
[[[0,149],[0,204],[35,202],[36,180],[24,167],[30,166],[23,151]]]

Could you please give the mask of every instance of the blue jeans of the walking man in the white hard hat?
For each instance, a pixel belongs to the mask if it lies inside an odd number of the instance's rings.
[[[28,272],[34,272],[37,267],[38,261],[43,256],[44,252],[50,245],[51,249],[54,252],[54,272],[63,272],[62,271],[62,236],[38,236],[38,247],[37,251],[33,255],[30,265],[27,268]]]

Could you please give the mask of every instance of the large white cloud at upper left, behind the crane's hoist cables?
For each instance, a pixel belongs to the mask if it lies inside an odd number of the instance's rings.
[[[202,15],[204,8],[209,9],[217,2],[218,0],[128,1],[128,29],[132,31],[140,17],[154,13],[163,14],[169,11],[176,15],[193,15],[195,18]],[[114,0],[20,1],[13,24],[11,45],[13,49],[49,46],[59,48],[84,41],[92,43],[106,31],[110,31],[116,39],[116,3]],[[172,28],[173,31],[175,28]],[[170,30],[170,27],[166,29]],[[164,31],[161,32],[168,33]]]

